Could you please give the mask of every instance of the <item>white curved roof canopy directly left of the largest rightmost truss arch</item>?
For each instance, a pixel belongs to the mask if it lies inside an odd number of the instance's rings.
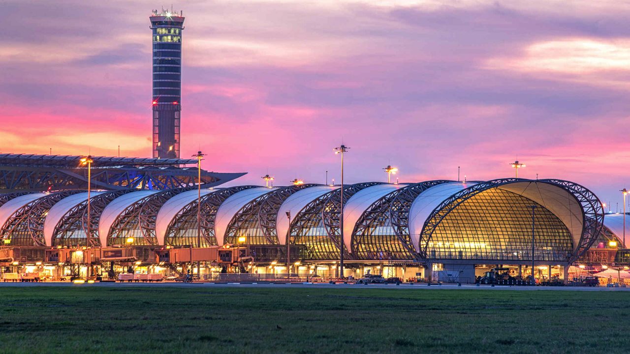
[[[409,234],[416,250],[420,249],[420,233],[433,209],[451,195],[473,185],[474,183],[464,182],[442,183],[427,188],[416,197],[409,209]]]

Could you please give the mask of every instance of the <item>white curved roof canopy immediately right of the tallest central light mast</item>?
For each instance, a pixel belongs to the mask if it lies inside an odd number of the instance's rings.
[[[352,232],[365,210],[379,198],[405,186],[407,185],[375,185],[357,191],[348,199],[348,202],[343,205],[343,244],[348,252],[352,253]]]

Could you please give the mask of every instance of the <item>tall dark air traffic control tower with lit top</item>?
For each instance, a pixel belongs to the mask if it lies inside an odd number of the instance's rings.
[[[180,157],[181,31],[183,13],[162,9],[149,17],[153,31],[153,157]]]

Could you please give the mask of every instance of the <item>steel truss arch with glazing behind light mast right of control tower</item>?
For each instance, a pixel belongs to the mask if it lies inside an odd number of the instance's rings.
[[[217,237],[214,234],[214,222],[221,203],[231,195],[249,188],[259,188],[259,186],[234,186],[202,195],[200,206],[202,245],[197,244],[197,199],[181,208],[173,220],[169,222],[164,235],[164,244],[193,247],[216,246]],[[195,232],[193,235],[186,236],[188,230],[195,230]]]

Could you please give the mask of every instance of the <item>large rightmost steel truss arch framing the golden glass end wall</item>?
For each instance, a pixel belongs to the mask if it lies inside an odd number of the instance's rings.
[[[582,208],[583,228],[580,240],[577,244],[573,245],[573,252],[566,256],[567,263],[575,261],[579,256],[581,256],[581,254],[585,253],[590,246],[592,246],[595,240],[597,240],[600,232],[602,232],[602,226],[604,226],[604,208],[602,207],[602,203],[599,198],[597,198],[592,191],[576,183],[564,180],[501,178],[497,180],[479,182],[476,185],[461,190],[445,199],[442,203],[440,203],[440,205],[433,209],[433,212],[427,217],[427,220],[425,220],[425,224],[423,225],[422,232],[420,234],[419,245],[421,256],[423,258],[427,258],[428,241],[432,238],[433,233],[440,222],[442,222],[442,220],[444,220],[444,218],[452,212],[452,210],[483,191],[517,182],[546,183],[557,186],[566,190],[570,193],[570,195],[573,195],[576,201],[580,203]]]

